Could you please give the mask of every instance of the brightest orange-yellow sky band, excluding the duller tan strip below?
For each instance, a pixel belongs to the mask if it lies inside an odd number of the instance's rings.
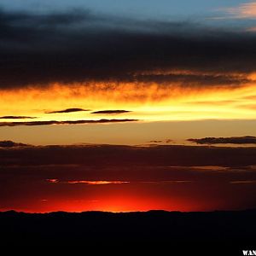
[[[248,82],[239,86],[216,84],[199,87],[195,82],[189,85],[177,82],[172,84],[88,82],[70,85],[49,84],[45,88],[32,86],[19,90],[1,90],[0,116],[32,116],[38,118],[35,119],[36,121],[109,118],[145,121],[254,119],[255,76],[254,73],[243,75],[242,78],[248,79]],[[91,111],[45,114],[47,111],[66,108],[84,108]],[[131,113],[111,115],[90,113],[112,109],[128,110]]]

